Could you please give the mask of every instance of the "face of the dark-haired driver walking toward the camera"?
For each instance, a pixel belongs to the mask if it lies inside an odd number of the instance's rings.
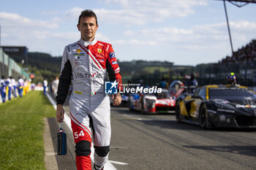
[[[95,33],[98,29],[96,19],[94,17],[83,17],[80,18],[80,24],[78,30],[80,31],[81,38],[85,41],[94,40]]]

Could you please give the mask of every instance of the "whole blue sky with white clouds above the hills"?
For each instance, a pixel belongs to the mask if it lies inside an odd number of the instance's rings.
[[[2,46],[60,56],[80,39],[83,9],[97,15],[97,39],[113,45],[119,61],[169,61],[195,66],[231,55],[223,1],[0,0]],[[226,2],[234,51],[256,39],[256,4]]]

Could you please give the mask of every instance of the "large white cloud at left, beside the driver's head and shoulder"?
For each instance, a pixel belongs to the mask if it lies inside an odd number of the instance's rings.
[[[26,46],[29,51],[59,55],[65,45],[79,39],[78,31],[60,31],[59,18],[32,20],[21,15],[0,12],[1,45]]]

